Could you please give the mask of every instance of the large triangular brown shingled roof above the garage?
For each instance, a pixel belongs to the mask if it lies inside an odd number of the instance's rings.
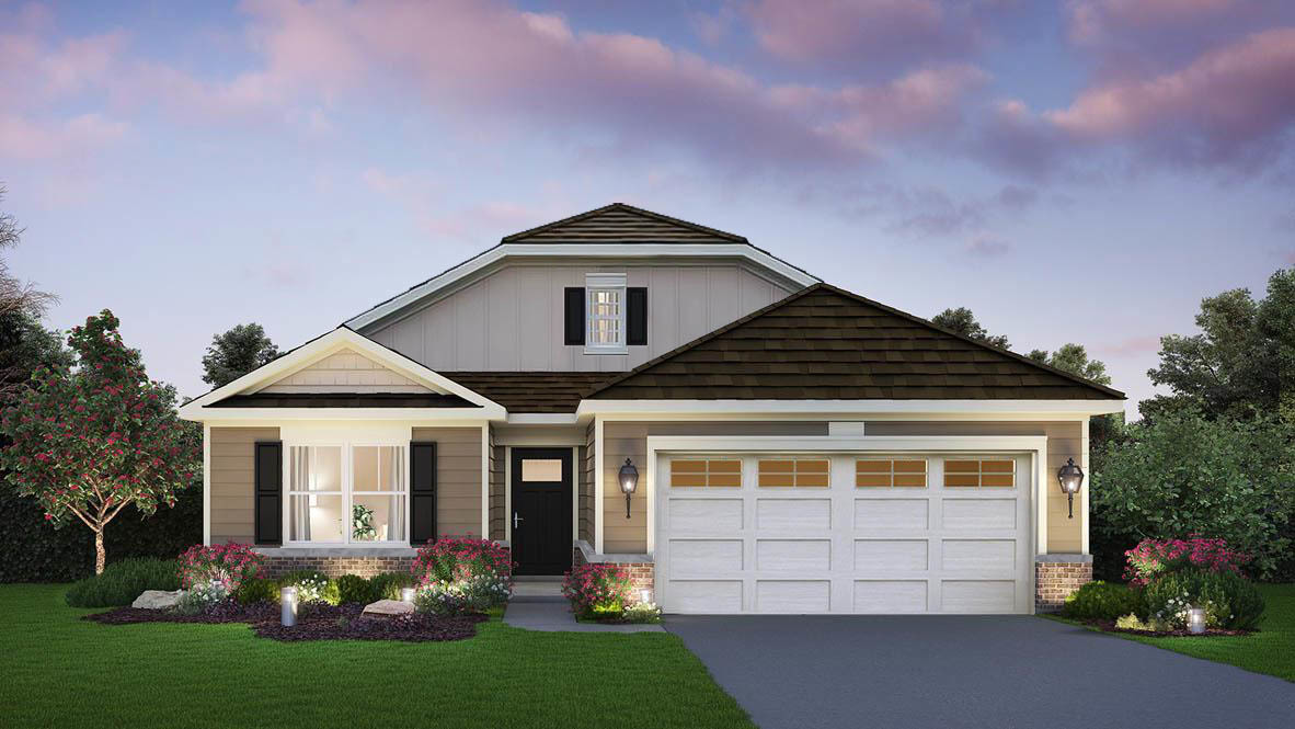
[[[1124,394],[816,284],[622,373],[613,400],[1103,400]]]

